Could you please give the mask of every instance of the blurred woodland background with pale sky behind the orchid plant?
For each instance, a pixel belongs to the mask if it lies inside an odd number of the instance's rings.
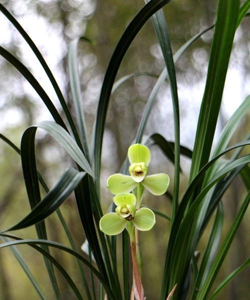
[[[143,6],[143,0],[1,0],[1,3],[16,17],[52,70],[72,114],[68,82],[67,51],[69,43],[85,36],[91,43],[80,41],[78,49],[79,72],[82,89],[82,106],[85,112],[87,133],[90,139],[96,113],[97,101],[109,58],[122,32],[136,12]],[[195,35],[214,21],[217,0],[172,0],[164,8],[173,53],[191,36]],[[229,71],[214,141],[221,129],[241,101],[250,94],[250,31],[246,18],[237,29]],[[46,75],[20,34],[0,13],[0,45],[20,59],[34,74],[46,90],[55,106],[61,110],[56,95]],[[212,31],[205,33],[183,53],[176,63],[176,76],[180,107],[181,144],[192,149],[202,92],[209,58]],[[132,42],[124,57],[116,79],[132,72],[150,72],[159,75],[164,60],[149,20]],[[26,127],[41,120],[51,120],[49,112],[29,83],[13,66],[0,57],[0,133],[7,136],[19,147],[22,132]],[[103,212],[111,202],[112,195],[106,189],[107,177],[118,172],[126,151],[133,138],[143,112],[143,107],[156,78],[148,75],[133,77],[124,82],[112,95],[106,119],[103,139],[101,169],[101,202]],[[249,130],[249,112],[235,132],[232,143],[241,140]],[[167,140],[173,141],[172,104],[168,82],[160,89],[150,114],[145,134],[158,132]],[[151,147],[152,161],[149,172],[166,172],[173,178],[173,165],[156,147]],[[38,169],[49,187],[58,179],[62,171],[71,164],[63,149],[38,130],[36,134],[36,159]],[[180,196],[188,182],[190,161],[181,158]],[[172,182],[173,180],[171,180]],[[25,193],[19,156],[0,140],[0,228],[6,228],[22,218],[29,205]],[[169,191],[171,192],[171,183]],[[245,194],[240,178],[236,178],[223,197],[225,221],[223,232],[227,232]],[[145,204],[170,214],[169,200],[165,196],[156,199],[146,193]],[[61,206],[63,215],[72,232],[77,248],[84,241],[73,195]],[[225,263],[219,273],[219,280],[229,274],[249,257],[249,209],[237,232]],[[46,220],[49,239],[67,244],[65,235],[56,215]],[[14,232],[21,237],[36,237],[34,228]],[[141,252],[143,257],[143,285],[147,299],[157,299],[160,292],[165,249],[169,233],[169,223],[156,217],[153,230],[141,233]],[[205,231],[198,250],[205,246],[209,231]],[[46,290],[48,299],[53,294],[46,277],[45,267],[40,254],[28,246],[18,246],[28,266]],[[51,251],[56,259],[72,275],[80,286],[76,264],[71,257],[59,251]],[[36,299],[23,270],[11,254],[10,249],[0,249],[0,299]],[[86,270],[87,271],[87,270]],[[245,280],[248,278],[248,280]],[[219,299],[245,300],[250,294],[250,269],[245,269],[219,295]],[[73,299],[69,287],[58,274],[63,299]]]

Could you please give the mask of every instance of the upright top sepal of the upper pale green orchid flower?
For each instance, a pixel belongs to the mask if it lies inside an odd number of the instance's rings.
[[[130,163],[143,161],[148,165],[151,160],[151,153],[148,147],[139,143],[133,144],[128,148],[127,156]]]

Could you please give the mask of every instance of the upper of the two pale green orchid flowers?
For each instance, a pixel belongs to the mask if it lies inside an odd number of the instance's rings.
[[[136,143],[127,151],[130,162],[129,175],[112,174],[107,179],[107,187],[113,194],[127,193],[141,184],[153,195],[162,195],[168,187],[169,177],[165,173],[147,175],[151,153],[147,146]]]

